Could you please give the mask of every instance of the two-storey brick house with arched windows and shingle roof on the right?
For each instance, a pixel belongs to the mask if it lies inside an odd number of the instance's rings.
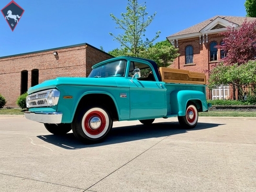
[[[244,20],[252,21],[256,18],[215,16],[199,24],[166,37],[176,48],[180,56],[170,67],[194,72],[203,72],[208,80],[208,70],[225,57],[225,52],[216,49],[222,43],[219,33],[227,31],[227,27],[239,28]],[[207,98],[218,99],[232,97],[228,86],[220,86],[217,90],[208,90]]]

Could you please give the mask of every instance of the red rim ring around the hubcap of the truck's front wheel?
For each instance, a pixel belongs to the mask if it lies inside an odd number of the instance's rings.
[[[96,129],[90,126],[90,121],[95,117],[101,121],[101,125]],[[105,129],[105,126],[106,126],[106,118],[101,111],[91,111],[89,114],[87,114],[84,121],[84,128],[87,133],[91,135],[97,135]]]

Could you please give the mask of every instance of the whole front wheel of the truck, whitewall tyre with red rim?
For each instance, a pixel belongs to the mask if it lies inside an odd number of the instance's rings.
[[[76,138],[84,143],[98,143],[103,141],[112,129],[113,120],[103,107],[90,107],[77,111],[72,123],[72,130]]]

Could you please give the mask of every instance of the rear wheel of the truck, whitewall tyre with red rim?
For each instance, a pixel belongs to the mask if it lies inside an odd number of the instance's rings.
[[[196,127],[198,121],[198,111],[194,104],[188,105],[185,116],[178,116],[180,125],[186,129]]]

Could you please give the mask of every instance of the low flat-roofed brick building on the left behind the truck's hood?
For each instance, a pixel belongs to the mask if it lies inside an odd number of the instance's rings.
[[[88,76],[92,65],[109,58],[113,56],[87,43],[0,57],[5,107],[17,107],[17,98],[30,86],[58,76]]]

